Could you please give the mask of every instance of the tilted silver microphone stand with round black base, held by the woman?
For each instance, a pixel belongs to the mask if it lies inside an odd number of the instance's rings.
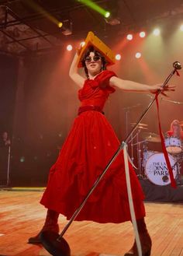
[[[177,71],[177,69],[181,69],[181,64],[178,61],[175,61],[173,64],[174,70],[170,73],[170,75],[167,76],[167,79],[165,79],[162,88],[167,85],[167,82],[171,79],[171,77],[174,75],[174,73]],[[161,90],[157,91],[157,95],[161,93]],[[144,110],[143,114],[140,116],[139,120],[136,122],[134,127],[129,132],[129,135],[126,136],[126,139],[124,142],[122,142],[119,146],[119,149],[116,150],[116,153],[112,156],[111,160],[109,160],[109,163],[106,165],[105,169],[102,171],[102,174],[98,176],[95,183],[91,187],[91,190],[88,191],[88,194],[84,198],[83,202],[81,202],[81,205],[78,207],[78,209],[75,210],[73,216],[71,216],[71,219],[67,223],[67,225],[64,227],[64,230],[61,231],[60,234],[51,232],[51,231],[43,231],[40,234],[40,239],[42,242],[43,247],[50,252],[50,254],[53,254],[54,256],[70,256],[71,251],[70,247],[67,244],[67,241],[64,239],[64,233],[67,231],[69,226],[71,226],[71,223],[74,221],[74,219],[78,216],[79,212],[81,212],[81,209],[84,207],[85,203],[87,202],[89,196],[92,194],[92,192],[97,187],[98,183],[102,180],[102,177],[105,175],[106,171],[111,166],[112,162],[116,160],[116,157],[119,155],[119,153],[122,151],[122,149],[126,148],[126,142],[130,138],[130,136],[133,134],[133,132],[136,130],[136,127],[138,124],[140,124],[140,121],[142,121],[143,117],[147,114],[147,112],[150,110],[150,107],[153,105],[154,101],[156,100],[156,97],[154,96],[154,100],[152,100],[147,107],[146,110]]]

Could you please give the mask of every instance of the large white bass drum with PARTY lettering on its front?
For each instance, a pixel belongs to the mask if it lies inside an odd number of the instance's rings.
[[[168,155],[168,157],[175,178],[177,175],[177,164],[173,156]],[[149,157],[146,163],[145,172],[148,179],[156,185],[164,186],[171,183],[163,153],[157,153]]]

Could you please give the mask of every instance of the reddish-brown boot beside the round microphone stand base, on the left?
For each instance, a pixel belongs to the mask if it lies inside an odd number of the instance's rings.
[[[50,230],[50,231],[54,231],[55,233],[59,233],[59,226],[57,223],[58,216],[59,216],[59,213],[48,209],[47,217],[46,217],[43,228],[35,237],[29,237],[28,244],[41,244],[40,233],[43,231]]]

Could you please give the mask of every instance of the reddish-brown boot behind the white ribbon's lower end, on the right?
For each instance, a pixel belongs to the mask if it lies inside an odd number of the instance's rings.
[[[136,219],[136,225],[139,231],[140,236],[140,244],[142,247],[142,255],[143,256],[150,256],[152,241],[150,239],[150,235],[147,231],[146,223],[143,219]],[[136,247],[136,241],[133,244],[133,247],[124,254],[124,256],[139,256],[137,247]]]

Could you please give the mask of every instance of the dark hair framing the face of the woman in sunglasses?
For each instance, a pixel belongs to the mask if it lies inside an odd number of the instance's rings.
[[[81,60],[82,66],[85,68],[86,77],[88,79],[89,79],[88,68],[85,65],[85,59],[89,56],[91,52],[93,52],[95,56],[99,56],[101,58],[101,61],[102,61],[101,71],[106,69],[106,64],[107,64],[107,61],[105,60],[104,56],[102,56],[102,54],[99,51],[97,51],[95,47],[93,46],[88,47],[88,51],[86,51],[84,57]]]

